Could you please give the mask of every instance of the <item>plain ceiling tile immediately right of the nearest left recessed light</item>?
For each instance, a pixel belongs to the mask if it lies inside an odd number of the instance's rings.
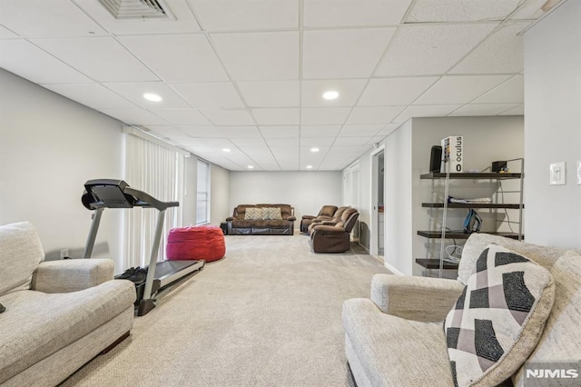
[[[196,107],[243,108],[240,95],[231,82],[170,84],[186,101]]]

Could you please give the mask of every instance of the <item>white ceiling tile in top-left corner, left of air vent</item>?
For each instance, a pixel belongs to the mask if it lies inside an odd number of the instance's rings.
[[[0,0],[0,24],[26,37],[103,35],[105,31],[69,0]]]

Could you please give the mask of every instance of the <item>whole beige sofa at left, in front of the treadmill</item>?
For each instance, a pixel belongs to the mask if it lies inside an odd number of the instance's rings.
[[[0,226],[0,384],[54,386],[133,327],[135,287],[113,262],[43,262],[30,223]]]

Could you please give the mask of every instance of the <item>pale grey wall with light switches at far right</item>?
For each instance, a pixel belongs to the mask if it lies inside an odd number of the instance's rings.
[[[581,248],[581,3],[569,1],[525,34],[525,221],[528,242]],[[566,185],[549,164],[566,162]]]

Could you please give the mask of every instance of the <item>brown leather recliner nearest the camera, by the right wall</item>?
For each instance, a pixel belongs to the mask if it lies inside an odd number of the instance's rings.
[[[350,249],[350,233],[357,223],[359,213],[354,208],[347,208],[340,222],[323,221],[311,224],[310,243],[315,253],[344,253]]]

